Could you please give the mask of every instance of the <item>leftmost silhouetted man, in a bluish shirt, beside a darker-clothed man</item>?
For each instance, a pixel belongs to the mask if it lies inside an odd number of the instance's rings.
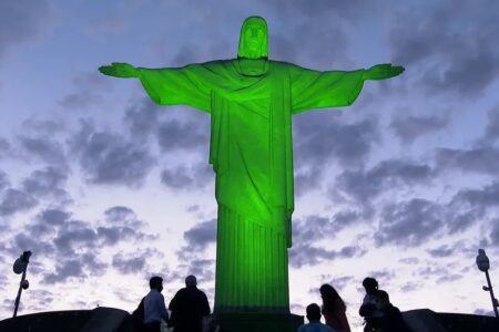
[[[152,277],[149,280],[151,291],[144,298],[144,332],[160,332],[161,320],[169,322],[169,312],[164,305],[163,278]]]

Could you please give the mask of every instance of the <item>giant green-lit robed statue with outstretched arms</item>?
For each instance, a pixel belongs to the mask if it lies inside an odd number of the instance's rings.
[[[99,70],[141,80],[157,104],[211,115],[218,204],[215,312],[289,313],[292,115],[348,106],[364,81],[397,76],[404,68],[319,72],[271,61],[267,24],[251,17],[241,29],[237,59],[165,69],[112,63]]]

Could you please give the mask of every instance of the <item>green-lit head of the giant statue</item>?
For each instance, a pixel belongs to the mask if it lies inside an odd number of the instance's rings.
[[[238,58],[268,58],[267,22],[261,17],[249,17],[241,28]]]

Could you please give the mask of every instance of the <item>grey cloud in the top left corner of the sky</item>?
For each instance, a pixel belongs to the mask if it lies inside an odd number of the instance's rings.
[[[0,3],[0,56],[10,48],[35,38],[50,27],[50,1],[2,1]]]

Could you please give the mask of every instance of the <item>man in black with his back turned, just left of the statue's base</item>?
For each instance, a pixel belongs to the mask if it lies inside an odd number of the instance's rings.
[[[203,317],[210,314],[206,294],[197,289],[194,276],[185,278],[185,288],[179,290],[170,302],[171,324],[175,332],[201,332]]]

